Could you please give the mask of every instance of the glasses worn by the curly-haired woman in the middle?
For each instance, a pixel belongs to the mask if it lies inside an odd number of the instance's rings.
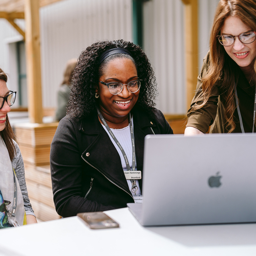
[[[124,85],[127,85],[127,90],[130,93],[136,93],[138,90],[140,90],[141,81],[142,80],[134,80],[134,81],[131,81],[131,82],[127,83],[127,84],[116,83],[116,82],[104,83],[102,81],[100,81],[100,83],[102,83],[103,85],[108,86],[108,91],[110,93],[112,93],[112,94],[119,94],[123,90],[123,86]]]

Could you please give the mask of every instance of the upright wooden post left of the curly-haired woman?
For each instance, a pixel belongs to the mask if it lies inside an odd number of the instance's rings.
[[[31,123],[42,123],[39,0],[25,0],[28,111]]]

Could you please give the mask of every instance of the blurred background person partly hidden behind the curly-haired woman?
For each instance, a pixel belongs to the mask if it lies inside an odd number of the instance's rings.
[[[58,106],[55,114],[55,120],[57,121],[60,121],[64,116],[66,116],[66,108],[71,91],[70,86],[76,64],[77,59],[71,59],[66,64],[66,69],[63,74],[63,82],[61,83],[60,89],[58,90]]]

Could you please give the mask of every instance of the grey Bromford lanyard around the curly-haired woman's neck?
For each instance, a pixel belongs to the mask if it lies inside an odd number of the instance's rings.
[[[110,133],[111,137],[113,138],[113,140],[117,144],[118,148],[121,150],[121,152],[124,156],[124,161],[126,163],[127,171],[130,172],[131,168],[130,168],[129,161],[127,159],[126,153],[124,152],[124,149],[122,148],[121,144],[119,143],[119,141],[117,140],[117,138],[113,134],[110,127],[108,126],[107,122],[105,121],[104,117],[102,116],[101,112],[99,111],[99,108],[97,108],[97,113],[98,113],[99,118],[101,119],[102,123],[107,128],[108,132]],[[134,142],[134,135],[133,135],[133,127],[132,127],[132,116],[131,116],[130,113],[129,113],[129,119],[130,119],[130,134],[131,134],[131,140],[132,140],[132,171],[135,172],[135,158],[136,158],[135,157],[135,142]],[[138,187],[136,185],[136,181],[135,181],[135,179],[130,179],[130,181],[132,182],[132,192],[134,192],[135,195],[136,195],[136,191],[138,190]]]

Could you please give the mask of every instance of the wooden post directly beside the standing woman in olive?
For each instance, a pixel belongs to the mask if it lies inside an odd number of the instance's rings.
[[[189,109],[198,77],[198,0],[182,0],[182,2],[185,4],[187,109]]]

